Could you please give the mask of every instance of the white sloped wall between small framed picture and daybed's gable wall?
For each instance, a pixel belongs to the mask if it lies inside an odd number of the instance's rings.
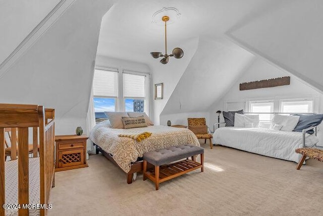
[[[160,124],[166,125],[168,120],[187,124],[187,117],[197,117],[194,113],[208,118],[209,106],[231,87],[252,58],[229,41],[200,38],[195,55],[160,114]]]

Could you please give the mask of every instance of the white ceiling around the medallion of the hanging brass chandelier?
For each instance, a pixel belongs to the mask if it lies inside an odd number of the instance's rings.
[[[97,55],[151,65],[156,60],[151,58],[149,52],[165,52],[164,27],[152,23],[151,18],[164,7],[174,7],[181,13],[180,20],[167,28],[170,52],[192,37],[223,37],[225,32],[241,20],[257,17],[279,2],[281,1],[118,1],[102,18]],[[181,48],[185,51],[186,47]]]

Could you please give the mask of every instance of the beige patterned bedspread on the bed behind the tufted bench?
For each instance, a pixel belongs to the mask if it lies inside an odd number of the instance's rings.
[[[135,141],[129,137],[119,137],[120,133],[150,132],[150,137]],[[199,146],[194,133],[186,128],[168,126],[148,126],[146,128],[112,129],[105,122],[97,124],[90,132],[90,139],[104,151],[113,155],[116,163],[126,173],[130,171],[131,162],[135,162],[143,153],[170,146],[191,144]]]

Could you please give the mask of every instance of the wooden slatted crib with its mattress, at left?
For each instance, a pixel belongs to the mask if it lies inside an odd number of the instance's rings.
[[[55,110],[39,105],[0,104],[2,146],[5,146],[7,128],[11,128],[11,132],[18,132],[18,151],[16,141],[13,141],[11,160],[5,161],[5,148],[0,148],[0,204],[19,204],[21,208],[0,207],[0,216],[46,215],[50,208],[49,193],[55,179]],[[29,134],[32,134],[30,139]],[[30,140],[33,140],[33,158],[29,158]],[[23,208],[26,204],[29,209]]]

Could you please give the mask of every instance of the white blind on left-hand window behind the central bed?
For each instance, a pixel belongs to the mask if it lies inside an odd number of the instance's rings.
[[[118,97],[118,72],[95,70],[93,78],[95,97]]]

